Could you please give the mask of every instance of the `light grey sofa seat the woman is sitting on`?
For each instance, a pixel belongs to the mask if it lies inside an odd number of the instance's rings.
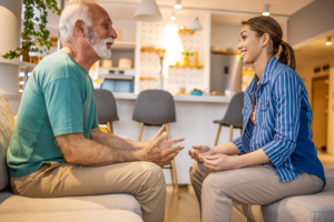
[[[325,169],[327,184],[320,193],[291,196],[268,205],[238,205],[237,210],[254,222],[334,221],[334,169]]]

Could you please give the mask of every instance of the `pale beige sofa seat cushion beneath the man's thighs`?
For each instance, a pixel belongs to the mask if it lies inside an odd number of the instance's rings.
[[[0,214],[110,209],[132,211],[141,216],[140,205],[136,198],[130,194],[41,199],[14,195],[9,191],[0,192]]]

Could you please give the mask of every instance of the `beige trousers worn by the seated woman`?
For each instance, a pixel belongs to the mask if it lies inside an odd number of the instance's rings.
[[[265,205],[292,195],[320,192],[324,184],[320,178],[307,173],[282,183],[271,167],[210,172],[198,162],[190,167],[190,181],[203,222],[229,222],[234,205]]]

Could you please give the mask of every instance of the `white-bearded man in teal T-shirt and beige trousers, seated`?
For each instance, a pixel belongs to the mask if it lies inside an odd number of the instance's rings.
[[[35,68],[11,137],[13,192],[36,198],[131,193],[145,221],[164,221],[159,167],[184,148],[171,147],[184,139],[166,141],[164,125],[146,143],[101,132],[88,70],[110,58],[117,38],[112,22],[99,4],[71,1],[59,27],[63,48]]]

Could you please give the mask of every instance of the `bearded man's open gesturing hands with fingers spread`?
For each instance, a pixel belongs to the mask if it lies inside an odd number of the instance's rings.
[[[146,143],[143,150],[137,151],[141,160],[154,162],[161,168],[168,164],[184,149],[184,145],[171,145],[185,140],[184,138],[178,138],[165,141],[167,133],[164,131],[165,125]]]

